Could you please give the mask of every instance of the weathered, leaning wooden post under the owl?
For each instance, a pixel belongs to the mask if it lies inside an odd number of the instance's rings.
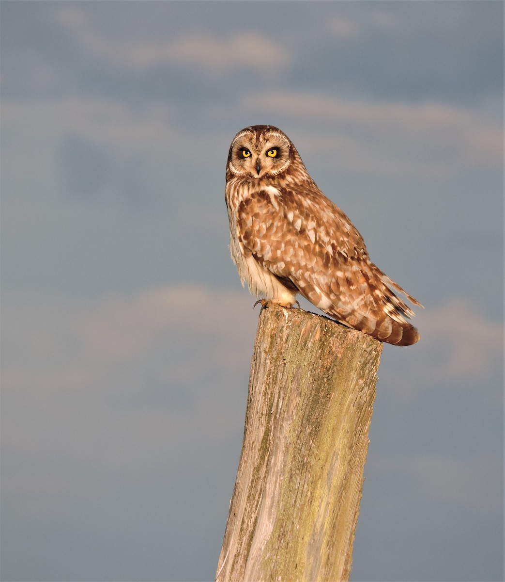
[[[382,344],[263,309],[217,582],[338,582],[352,564]]]

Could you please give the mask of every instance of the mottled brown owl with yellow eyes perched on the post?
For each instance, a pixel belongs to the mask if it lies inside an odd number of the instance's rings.
[[[421,304],[370,261],[360,233],[317,187],[280,129],[255,125],[235,136],[225,200],[232,260],[263,306],[291,308],[299,293],[381,342],[417,342],[406,320],[414,313],[393,289]]]

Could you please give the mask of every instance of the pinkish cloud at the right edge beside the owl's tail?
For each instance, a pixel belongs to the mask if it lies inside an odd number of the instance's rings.
[[[473,407],[476,418],[503,407],[503,324],[462,297],[426,305],[414,325],[421,339],[397,350],[386,346],[379,377],[397,414],[411,414],[427,396]],[[408,352],[407,352],[408,350]],[[437,404],[439,406],[439,404]]]

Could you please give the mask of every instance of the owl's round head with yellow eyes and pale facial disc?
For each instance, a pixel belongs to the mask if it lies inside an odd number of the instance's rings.
[[[295,146],[284,132],[273,125],[253,125],[238,132],[231,142],[226,179],[273,178],[285,172],[294,161],[305,170]]]

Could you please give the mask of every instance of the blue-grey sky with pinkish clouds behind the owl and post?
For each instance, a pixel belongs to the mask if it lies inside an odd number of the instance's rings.
[[[224,168],[256,123],[425,306],[382,355],[352,580],[502,580],[503,3],[0,10],[2,580],[213,580],[259,313]]]

